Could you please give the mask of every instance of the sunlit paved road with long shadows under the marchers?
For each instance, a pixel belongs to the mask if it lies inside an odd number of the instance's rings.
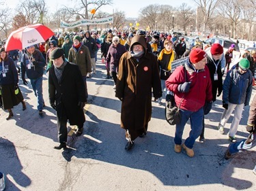
[[[44,117],[38,116],[31,85],[20,85],[27,102],[14,108],[6,121],[0,111],[0,171],[6,175],[6,190],[256,190],[255,148],[223,159],[229,141],[216,131],[223,108],[221,100],[205,116],[205,143],[195,143],[195,157],[173,151],[174,126],[165,121],[165,107],[152,103],[152,120],[144,138],[135,140],[130,152],[120,128],[121,102],[115,98],[113,80],[105,80],[104,65],[97,63],[96,75],[88,79],[89,104],[83,136],[70,137],[68,150],[57,144],[55,111],[48,103],[44,76]],[[20,81],[21,84],[21,81]],[[255,90],[253,90],[255,94]],[[238,140],[247,136],[244,108]],[[232,119],[232,118],[231,118]],[[187,124],[184,138],[188,135]],[[74,138],[72,140],[72,138]]]

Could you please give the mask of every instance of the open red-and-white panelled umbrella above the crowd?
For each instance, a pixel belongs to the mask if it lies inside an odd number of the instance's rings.
[[[42,24],[29,24],[10,34],[5,44],[5,51],[21,50],[28,46],[44,42],[53,35],[53,31]]]

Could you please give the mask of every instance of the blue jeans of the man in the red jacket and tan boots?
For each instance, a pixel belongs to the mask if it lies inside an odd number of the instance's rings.
[[[203,120],[203,107],[201,107],[201,109],[195,112],[180,109],[180,116],[181,116],[180,123],[176,124],[174,143],[176,145],[182,144],[182,135],[183,135],[184,127],[188,119],[190,119],[191,131],[189,133],[189,137],[186,138],[185,145],[186,147],[192,149],[195,143],[195,140],[201,134],[202,120]]]

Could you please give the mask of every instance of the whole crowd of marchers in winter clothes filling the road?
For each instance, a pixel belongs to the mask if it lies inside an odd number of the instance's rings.
[[[48,92],[51,107],[57,113],[59,145],[66,148],[67,122],[78,126],[76,135],[83,134],[87,103],[87,78],[96,73],[97,53],[106,67],[106,79],[113,78],[115,97],[122,101],[121,127],[125,130],[126,150],[131,150],[137,137],[147,135],[147,126],[152,115],[152,96],[158,105],[175,97],[180,107],[180,122],[175,126],[174,151],[186,151],[195,155],[196,139],[205,141],[204,116],[209,114],[216,97],[223,95],[223,115],[218,124],[219,133],[225,133],[225,125],[231,113],[234,118],[227,137],[231,145],[225,158],[238,150],[248,150],[255,145],[255,101],[248,119],[248,139],[236,143],[236,133],[242,109],[249,105],[253,90],[256,53],[246,52],[239,63],[230,68],[234,46],[225,52],[216,41],[203,47],[199,38],[189,48],[184,37],[154,31],[91,33],[63,33],[46,42],[29,46],[25,50],[0,50],[1,107],[8,110],[10,120],[12,108],[26,104],[18,88],[18,73],[23,84],[29,78],[40,116],[45,106],[42,94],[44,73],[48,73]],[[172,63],[186,58],[183,65],[172,71]],[[17,65],[20,62],[20,67]],[[225,80],[223,82],[223,78]],[[73,80],[70,80],[73,79]],[[256,99],[253,99],[256,100]],[[190,133],[184,143],[182,135],[186,122],[190,120]],[[248,141],[249,140],[249,141]]]

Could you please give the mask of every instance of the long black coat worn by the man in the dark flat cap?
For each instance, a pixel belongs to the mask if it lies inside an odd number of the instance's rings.
[[[83,124],[85,114],[83,109],[78,106],[79,101],[86,102],[85,84],[79,67],[67,63],[64,67],[61,82],[58,82],[54,67],[49,69],[49,100],[57,107],[57,116],[62,116],[65,112],[70,125]]]

